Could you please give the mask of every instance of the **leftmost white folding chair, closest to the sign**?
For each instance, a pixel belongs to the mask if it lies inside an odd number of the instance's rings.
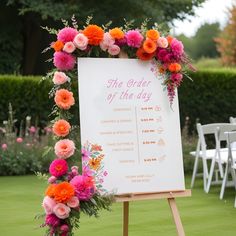
[[[207,192],[207,179],[209,177],[207,160],[211,160],[217,155],[218,145],[215,144],[216,146],[214,149],[207,149],[205,136],[206,135],[216,136],[216,128],[219,125],[223,125],[223,124],[228,124],[228,123],[212,123],[212,124],[206,124],[206,125],[201,125],[200,123],[197,124],[197,132],[198,132],[197,149],[196,151],[190,152],[190,154],[195,158],[192,181],[191,181],[191,188],[193,188],[194,186],[194,182],[195,182],[195,178],[196,178],[197,170],[198,170],[199,159],[202,159],[203,185],[204,185],[204,191]],[[221,175],[223,176],[223,168],[221,165],[219,165],[219,170],[220,170]]]

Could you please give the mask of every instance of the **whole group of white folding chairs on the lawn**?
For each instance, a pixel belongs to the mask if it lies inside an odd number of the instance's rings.
[[[229,174],[232,176],[231,183],[236,189],[236,119],[231,117],[230,122],[206,125],[198,123],[197,149],[190,152],[195,158],[191,188],[193,188],[198,175],[198,165],[201,159],[204,191],[208,193],[211,185],[221,184],[220,199],[223,199],[225,188],[230,183],[228,181]],[[207,148],[206,136],[208,135],[214,136],[215,147],[212,149]],[[223,141],[226,142],[226,147],[222,147]],[[214,181],[213,177],[215,177]],[[234,206],[236,207],[236,197]]]

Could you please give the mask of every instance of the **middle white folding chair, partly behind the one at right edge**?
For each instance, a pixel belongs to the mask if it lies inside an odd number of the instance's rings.
[[[224,177],[223,165],[228,161],[228,148],[222,148],[222,141],[226,141],[225,132],[236,131],[236,124],[230,123],[218,123],[215,131],[215,140],[216,140],[216,155],[211,160],[210,173],[207,180],[207,188],[206,192],[208,193],[210,190],[210,186],[213,183],[212,177],[215,170],[215,164],[218,164],[219,172],[221,178]],[[214,184],[221,183],[218,179],[214,182]]]

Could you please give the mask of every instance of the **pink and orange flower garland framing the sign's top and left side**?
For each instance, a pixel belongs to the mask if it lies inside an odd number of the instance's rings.
[[[146,28],[144,22],[140,29],[131,29],[131,24],[124,27],[108,29],[90,24],[91,18],[83,29],[79,29],[72,17],[72,25],[63,20],[65,27],[59,31],[46,29],[56,34],[56,41],[48,49],[53,49],[55,68],[45,78],[52,80],[54,86],[50,97],[55,106],[52,114],[52,131],[55,136],[54,152],[56,159],[49,167],[49,186],[45,191],[43,208],[47,235],[71,236],[79,227],[80,212],[97,216],[100,209],[109,209],[112,196],[106,195],[102,187],[103,177],[107,176],[103,169],[104,154],[102,147],[87,142],[82,147],[83,169],[78,166],[69,167],[68,159],[75,156],[76,145],[70,124],[70,108],[75,104],[71,91],[71,81],[77,78],[77,57],[119,57],[122,53],[129,58],[143,61],[152,60],[153,71],[163,76],[163,85],[172,104],[175,89],[180,86],[185,65],[191,67],[184,53],[183,44],[169,36],[161,34],[157,25]]]

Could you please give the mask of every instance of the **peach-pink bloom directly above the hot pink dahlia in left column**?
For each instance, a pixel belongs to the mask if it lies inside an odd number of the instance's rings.
[[[54,150],[59,158],[66,159],[74,154],[75,144],[72,140],[62,139],[55,144]]]

